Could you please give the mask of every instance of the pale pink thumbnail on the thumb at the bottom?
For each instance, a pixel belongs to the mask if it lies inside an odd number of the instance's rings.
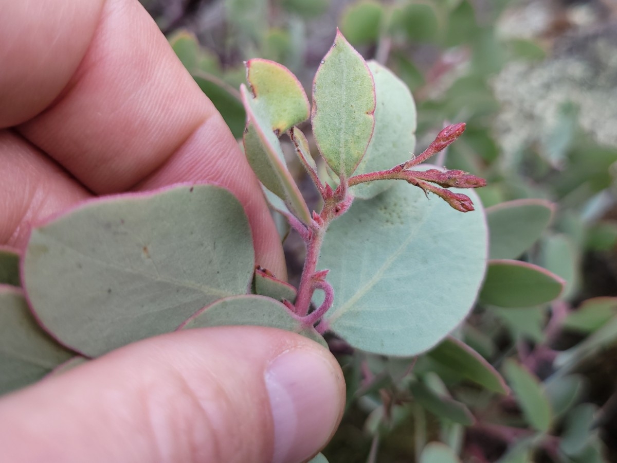
[[[265,373],[274,422],[273,463],[299,463],[323,447],[344,401],[339,370],[317,352],[292,349]]]

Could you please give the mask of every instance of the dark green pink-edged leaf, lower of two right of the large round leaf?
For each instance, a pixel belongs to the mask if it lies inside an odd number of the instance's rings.
[[[495,259],[489,261],[480,302],[499,307],[530,307],[557,298],[565,282],[528,262]]]

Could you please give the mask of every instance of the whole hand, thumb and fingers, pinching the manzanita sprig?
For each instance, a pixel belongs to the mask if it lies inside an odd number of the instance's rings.
[[[93,196],[214,181],[242,202],[257,262],[286,276],[257,180],[138,1],[0,11],[0,244],[23,249],[31,224]],[[343,406],[341,370],[312,341],[189,330],[1,398],[0,448],[11,462],[300,462]]]

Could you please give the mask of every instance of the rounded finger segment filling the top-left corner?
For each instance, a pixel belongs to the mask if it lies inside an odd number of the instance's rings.
[[[104,0],[2,2],[0,128],[43,111],[83,58]]]

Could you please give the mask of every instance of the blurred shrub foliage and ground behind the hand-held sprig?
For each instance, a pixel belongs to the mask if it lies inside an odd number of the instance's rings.
[[[438,162],[488,181],[479,302],[417,358],[330,340],[348,404],[329,461],[617,461],[615,0],[142,2],[237,138],[242,60],[310,90],[336,27],[412,90],[418,152],[467,123]],[[293,282],[301,241],[285,247]]]

